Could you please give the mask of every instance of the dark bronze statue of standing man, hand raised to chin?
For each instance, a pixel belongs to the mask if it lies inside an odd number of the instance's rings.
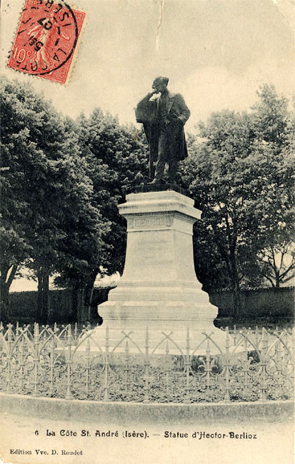
[[[150,150],[151,183],[159,183],[166,163],[169,165],[169,179],[175,183],[177,165],[187,156],[184,124],[191,112],[181,94],[171,94],[167,89],[169,79],[156,77],[153,91],[139,101],[136,107],[137,122],[144,123],[144,131]],[[161,94],[151,99],[154,94]],[[156,170],[154,172],[154,161]]]

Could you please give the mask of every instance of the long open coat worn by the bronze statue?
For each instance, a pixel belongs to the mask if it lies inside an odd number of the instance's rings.
[[[189,119],[191,112],[185,104],[181,94],[168,93],[167,96],[167,117],[170,121],[179,121],[176,125],[175,134],[175,157],[178,161],[183,160],[187,156],[186,138],[184,135],[184,124]],[[144,123],[144,131],[149,143],[151,161],[156,161],[158,157],[158,142],[159,142],[159,98],[150,100],[150,95],[144,97],[137,105],[136,111],[139,111],[140,116],[136,114],[138,122]],[[175,126],[175,125],[174,125]]]

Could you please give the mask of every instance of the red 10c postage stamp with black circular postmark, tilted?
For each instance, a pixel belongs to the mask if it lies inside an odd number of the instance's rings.
[[[7,66],[64,84],[84,18],[64,0],[26,0]]]

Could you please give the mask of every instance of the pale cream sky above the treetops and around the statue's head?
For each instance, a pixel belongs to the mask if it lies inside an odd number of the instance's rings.
[[[159,75],[184,96],[189,131],[213,111],[249,109],[264,83],[295,102],[295,0],[68,3],[86,21],[66,85],[7,68],[24,1],[1,3],[0,73],[30,82],[63,114],[88,116],[100,107],[135,123],[134,106]]]

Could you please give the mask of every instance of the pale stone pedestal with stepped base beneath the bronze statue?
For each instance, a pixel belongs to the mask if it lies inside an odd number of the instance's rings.
[[[110,348],[124,338],[122,331],[131,331],[132,341],[144,348],[146,327],[150,350],[161,343],[157,352],[165,352],[164,332],[172,333],[171,350],[180,354],[179,348],[187,348],[187,328],[194,348],[204,339],[202,332],[224,344],[224,332],[213,323],[218,310],[201,290],[194,271],[193,224],[201,217],[194,201],[175,191],[131,193],[119,212],[127,220],[126,263],[118,286],[99,305],[104,318],[94,331],[99,345],[104,344],[106,326]],[[123,344],[116,348],[121,349]],[[134,343],[129,349],[137,350]],[[202,353],[205,350],[202,346]]]

